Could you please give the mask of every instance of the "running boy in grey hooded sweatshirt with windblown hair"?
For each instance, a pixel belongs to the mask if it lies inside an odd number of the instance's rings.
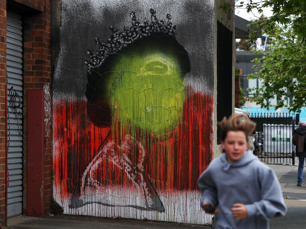
[[[217,229],[268,229],[271,218],[287,211],[274,171],[248,150],[255,125],[243,114],[218,123],[225,153],[198,179],[202,208],[215,214]]]

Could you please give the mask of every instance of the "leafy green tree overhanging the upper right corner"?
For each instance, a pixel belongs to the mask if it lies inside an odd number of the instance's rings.
[[[250,44],[255,43],[260,34],[268,34],[271,40],[271,52],[267,52],[261,60],[256,59],[256,73],[250,78],[263,81],[262,88],[256,90],[258,96],[252,98],[261,107],[269,107],[269,100],[277,97],[276,108],[283,107],[288,97],[293,101],[289,109],[300,111],[306,105],[306,0],[259,0],[235,1],[246,8],[249,13],[263,13],[266,7],[272,8],[273,16],[259,18],[249,24]],[[230,3],[220,5],[223,11],[231,9]],[[261,69],[259,68],[261,67]]]

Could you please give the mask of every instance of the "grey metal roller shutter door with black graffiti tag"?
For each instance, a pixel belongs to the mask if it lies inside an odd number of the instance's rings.
[[[23,42],[21,15],[7,12],[8,217],[22,214]]]

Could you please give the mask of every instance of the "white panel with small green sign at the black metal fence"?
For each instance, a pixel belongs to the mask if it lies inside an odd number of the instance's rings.
[[[292,125],[263,124],[264,152],[290,153],[292,140]]]

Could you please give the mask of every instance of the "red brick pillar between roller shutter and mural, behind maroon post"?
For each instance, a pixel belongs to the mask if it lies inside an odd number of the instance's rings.
[[[29,2],[29,1],[19,1]],[[43,1],[40,1],[43,2]],[[44,12],[24,18],[24,158],[27,157],[27,106],[28,89],[45,91],[45,213],[49,212],[51,198],[51,51],[50,51],[50,0],[45,1]],[[27,161],[24,160],[24,165]],[[24,203],[27,195],[27,170],[24,166]],[[24,204],[24,213],[26,212]]]

